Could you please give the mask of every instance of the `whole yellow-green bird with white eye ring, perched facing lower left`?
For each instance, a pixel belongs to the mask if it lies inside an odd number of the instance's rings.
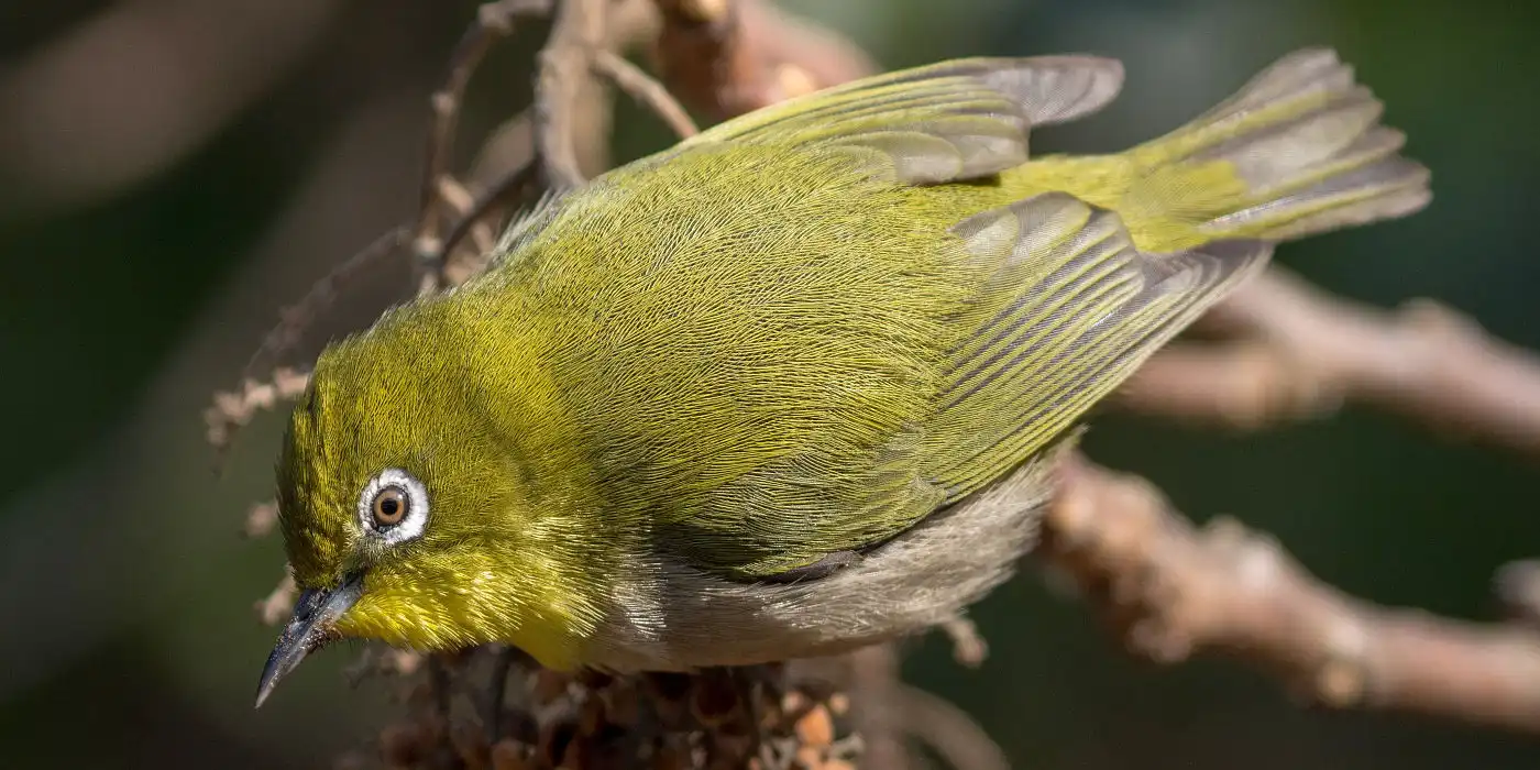
[[[690,670],[955,618],[1030,548],[1076,420],[1275,242],[1429,200],[1321,49],[1129,151],[1029,154],[1121,82],[970,59],[761,109],[326,348],[257,702],[339,638]]]

